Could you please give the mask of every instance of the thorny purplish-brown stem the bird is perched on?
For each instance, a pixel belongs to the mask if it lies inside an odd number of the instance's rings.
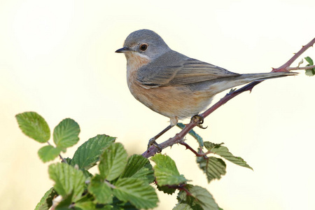
[[[297,59],[297,57],[300,57],[300,55],[302,55],[302,53],[305,52],[308,48],[313,46],[314,43],[315,43],[315,38],[313,38],[313,40],[311,40],[309,43],[307,43],[307,45],[302,46],[302,48],[297,53],[295,53],[295,55],[293,55],[293,57],[291,57],[288,60],[288,62],[286,62],[285,64],[283,64],[282,66],[280,66],[277,69],[272,69],[272,71],[273,72],[289,71],[288,68],[290,68],[290,65]],[[255,82],[249,83],[248,85],[241,87],[239,90],[236,90],[234,92],[230,92],[230,93],[226,94],[225,97],[223,97],[220,101],[218,101],[216,104],[214,104],[209,109],[207,109],[207,111],[204,111],[204,113],[202,113],[200,116],[202,116],[203,118],[206,118],[211,113],[213,113],[216,109],[218,109],[220,106],[222,106],[226,102],[230,101],[230,99],[236,97],[237,95],[241,94],[242,92],[251,91],[253,89],[253,87],[255,87],[255,85],[258,85],[261,82],[262,81],[255,81]],[[172,146],[174,144],[180,143],[182,141],[183,137],[185,137],[186,134],[188,134],[188,132],[190,132],[190,130],[192,130],[193,127],[195,127],[198,123],[200,123],[200,122],[197,122],[197,120],[191,120],[190,123],[188,125],[186,125],[186,127],[184,127],[183,130],[181,130],[181,132],[179,132],[179,134],[176,134],[175,137],[172,137],[172,138],[168,139],[167,141],[162,142],[160,144],[160,146],[162,148],[167,148],[168,146]],[[187,148],[187,146],[186,146],[186,148]],[[156,148],[155,146],[151,146],[142,155],[145,158],[150,158],[151,156],[155,155],[155,153],[157,153],[157,152],[158,152],[158,148]]]

